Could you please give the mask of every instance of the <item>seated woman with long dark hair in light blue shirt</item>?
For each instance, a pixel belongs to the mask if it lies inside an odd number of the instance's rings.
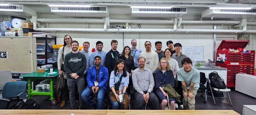
[[[110,91],[108,98],[112,103],[112,109],[127,109],[129,107],[130,98],[127,96],[126,91],[128,84],[129,73],[126,71],[125,62],[122,59],[118,59],[109,78]],[[119,102],[119,95],[122,95],[124,102]]]

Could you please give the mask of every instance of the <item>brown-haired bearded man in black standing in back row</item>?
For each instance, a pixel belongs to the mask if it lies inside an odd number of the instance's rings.
[[[106,67],[108,68],[108,75],[110,75],[111,71],[114,70],[116,66],[116,61],[120,59],[119,52],[117,49],[118,42],[117,40],[111,41],[111,50],[106,54]]]

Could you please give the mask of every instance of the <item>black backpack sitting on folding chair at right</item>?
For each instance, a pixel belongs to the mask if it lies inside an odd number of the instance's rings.
[[[209,74],[209,79],[211,81],[210,85],[212,88],[225,89],[227,87],[224,80],[220,78],[217,72],[211,72]]]

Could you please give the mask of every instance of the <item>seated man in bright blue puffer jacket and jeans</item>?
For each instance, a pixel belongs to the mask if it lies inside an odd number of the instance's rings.
[[[90,96],[92,93],[97,94],[97,109],[103,109],[103,97],[107,90],[108,83],[108,69],[100,64],[100,56],[94,57],[94,63],[95,66],[88,69],[86,78],[88,86],[84,89],[82,98],[84,102],[89,105],[90,109],[94,109],[95,105]]]

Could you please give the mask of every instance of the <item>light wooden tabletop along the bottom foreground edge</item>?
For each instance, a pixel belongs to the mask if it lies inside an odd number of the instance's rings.
[[[240,115],[233,110],[0,110],[1,115]]]

